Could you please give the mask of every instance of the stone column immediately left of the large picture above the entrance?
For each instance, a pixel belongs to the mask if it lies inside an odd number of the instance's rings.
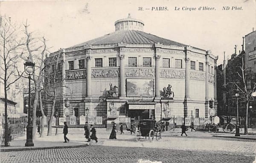
[[[119,59],[120,59],[120,97],[125,97],[125,55],[122,53],[122,48],[119,51]]]

